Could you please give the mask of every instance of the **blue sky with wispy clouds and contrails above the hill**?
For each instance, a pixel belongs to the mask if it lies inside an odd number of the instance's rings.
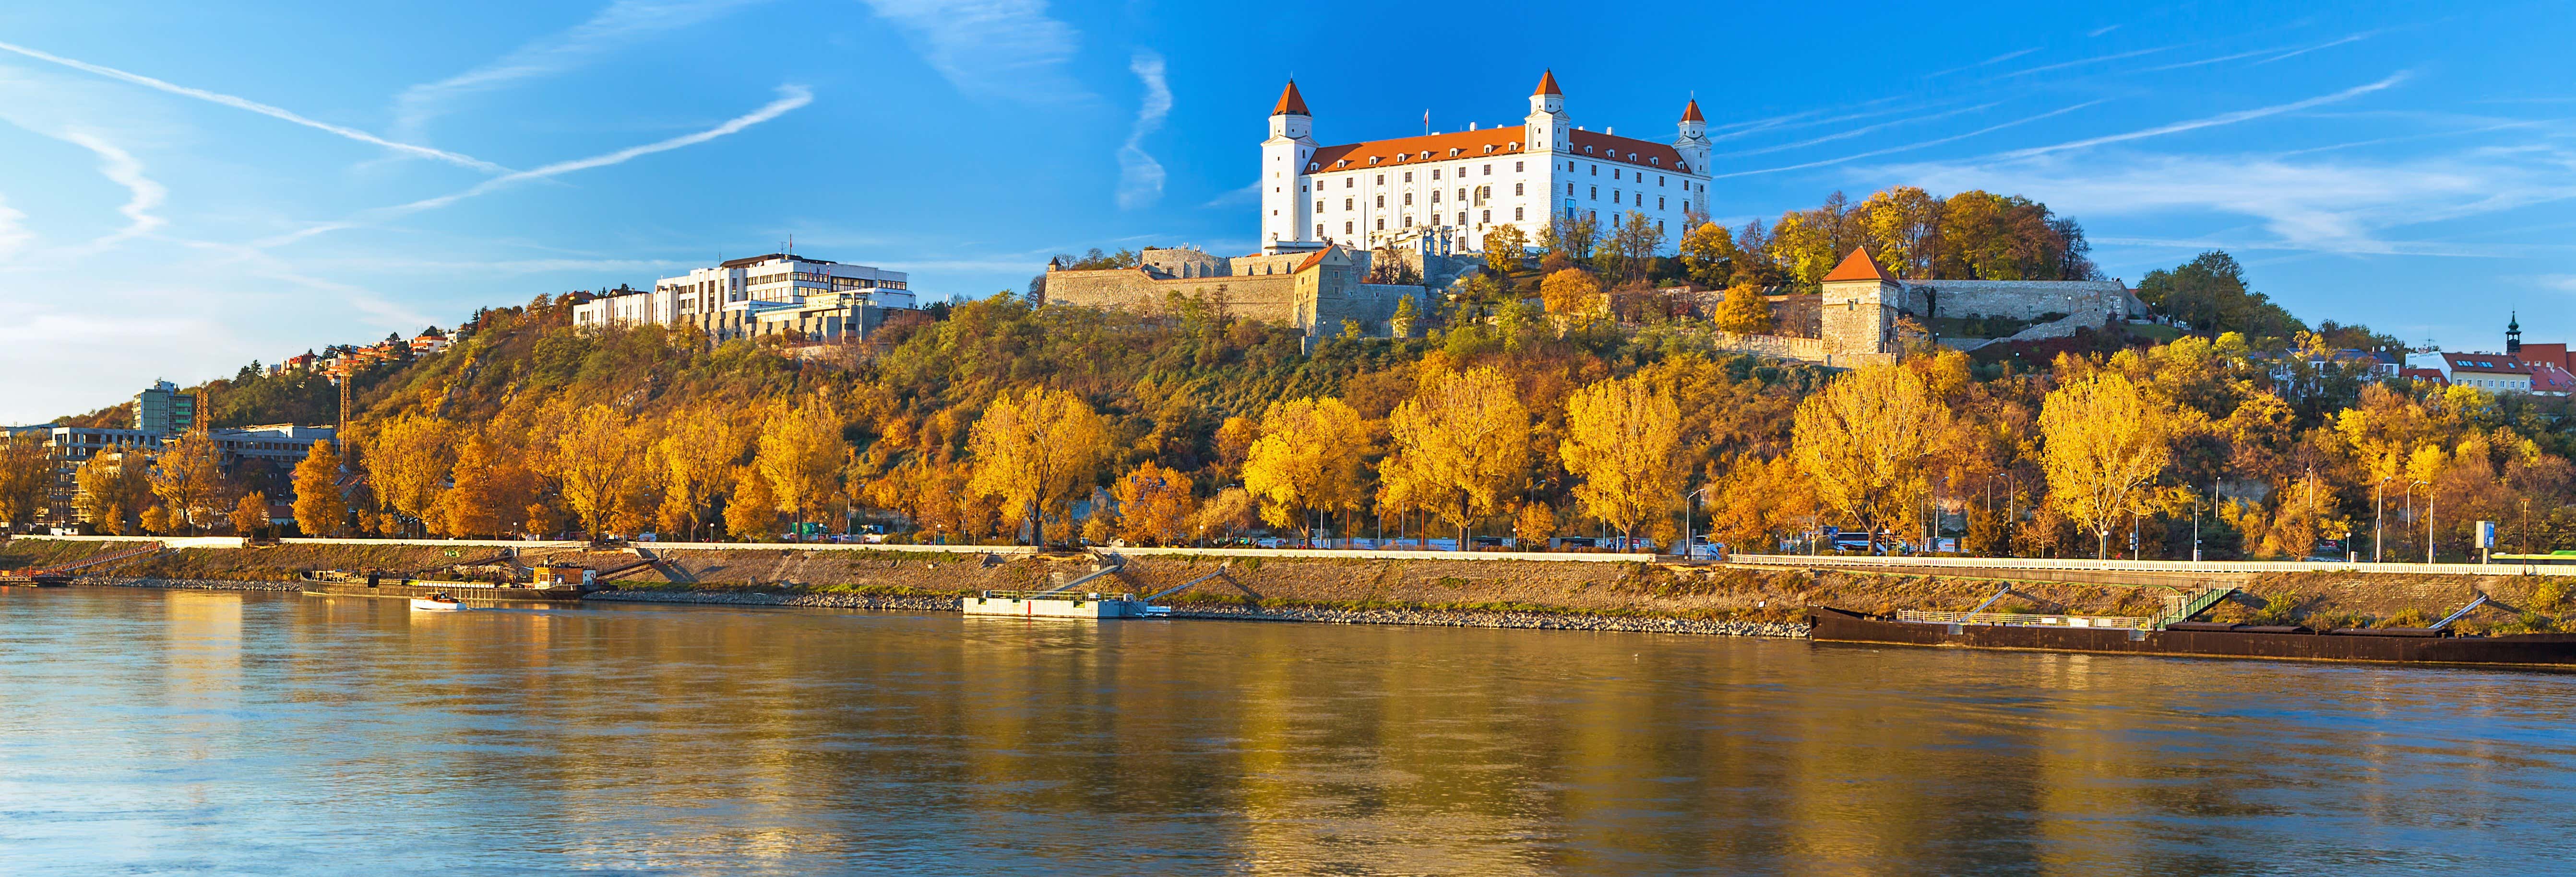
[[[2303,319],[2576,337],[2558,3],[0,5],[0,422],[719,255],[1020,288],[1249,252],[1298,77],[1321,141],[1700,98],[1721,216],[2022,193],[2136,283],[2205,247]]]

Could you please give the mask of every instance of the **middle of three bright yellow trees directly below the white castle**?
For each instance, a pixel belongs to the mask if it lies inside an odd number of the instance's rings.
[[[1458,527],[1492,517],[1528,486],[1530,409],[1494,368],[1427,368],[1386,419],[1396,453],[1378,468],[1391,507],[1437,509]]]

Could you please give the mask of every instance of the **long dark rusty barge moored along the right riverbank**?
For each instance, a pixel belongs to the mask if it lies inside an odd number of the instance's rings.
[[[1891,617],[1811,607],[1808,622],[1808,638],[1816,643],[2275,661],[2576,666],[2576,633],[2458,635],[2447,630],[2447,620],[2434,628],[2308,630],[2298,625],[2089,620],[2069,615],[1981,617],[1981,612],[1899,612]]]

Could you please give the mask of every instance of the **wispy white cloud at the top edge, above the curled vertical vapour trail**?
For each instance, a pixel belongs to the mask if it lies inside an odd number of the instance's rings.
[[[1087,98],[1064,75],[1079,33],[1048,18],[1046,0],[868,0],[868,8],[971,98]]]

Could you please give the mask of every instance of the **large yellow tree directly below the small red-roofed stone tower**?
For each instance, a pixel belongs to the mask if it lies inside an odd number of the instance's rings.
[[[1950,409],[1901,363],[1862,365],[1806,396],[1790,453],[1816,499],[1878,532],[1922,514],[1929,455],[1950,432]]]

